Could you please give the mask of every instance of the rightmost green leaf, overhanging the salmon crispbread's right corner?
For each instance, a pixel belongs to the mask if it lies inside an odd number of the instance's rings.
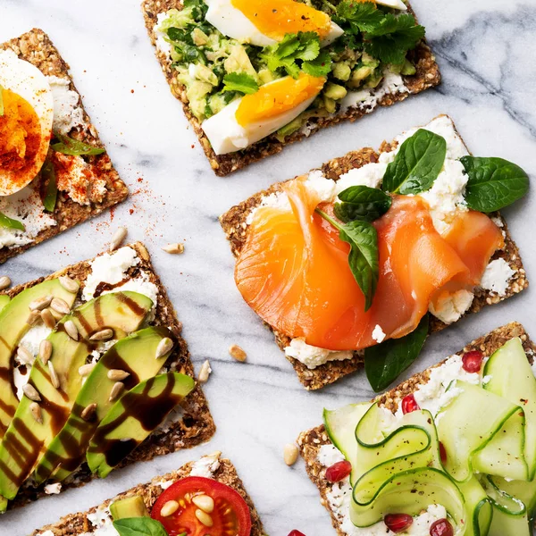
[[[511,205],[529,191],[529,177],[515,163],[502,158],[460,159],[469,175],[465,201],[469,208],[490,213]]]

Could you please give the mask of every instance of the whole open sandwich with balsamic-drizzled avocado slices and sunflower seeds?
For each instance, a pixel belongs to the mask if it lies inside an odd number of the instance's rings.
[[[3,511],[212,437],[141,244],[15,287],[0,305]]]

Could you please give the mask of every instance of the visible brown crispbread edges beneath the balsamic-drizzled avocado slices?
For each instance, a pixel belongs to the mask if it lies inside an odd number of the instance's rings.
[[[147,248],[140,242],[130,244],[130,247],[136,250],[139,264],[132,266],[127,275],[130,278],[137,277],[141,272],[147,275],[149,281],[153,282],[158,289],[158,303],[155,310],[155,321],[151,325],[163,325],[169,328],[176,338],[177,344],[166,361],[166,366],[170,370],[188,374],[195,377],[194,367],[190,361],[188,346],[182,339],[180,333],[182,324],[177,319],[177,314],[172,306],[162,281],[158,278],[151,263],[151,258]],[[102,254],[101,254],[102,255]],[[72,264],[58,272],[54,272],[46,277],[35,281],[24,283],[13,289],[4,292],[10,297],[14,297],[22,290],[33,287],[38,283],[57,278],[61,275],[68,275],[72,279],[80,282],[80,290],[84,288],[85,281],[88,278],[91,260],[83,261],[78,264]],[[128,456],[119,467],[130,465],[135,462],[148,461],[155,456],[162,456],[180,450],[181,448],[191,448],[203,443],[214,435],[215,426],[212,415],[208,408],[203,391],[197,383],[196,388],[181,403],[182,419],[171,423],[166,431],[151,434],[130,456]],[[62,482],[62,490],[67,488],[79,487],[95,478],[88,465],[84,464],[81,468],[65,482]],[[17,497],[9,503],[9,508],[22,507],[31,501],[42,498],[46,495],[45,484],[34,488],[29,484],[21,487]]]

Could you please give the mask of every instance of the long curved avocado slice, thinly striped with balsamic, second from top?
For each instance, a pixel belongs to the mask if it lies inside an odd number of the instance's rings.
[[[150,298],[137,292],[114,292],[92,299],[58,322],[48,340],[52,343],[49,364],[54,365],[60,388],[54,388],[48,366],[36,360],[29,385],[37,389],[41,398],[42,422],[32,414],[32,401],[22,397],[0,444],[0,495],[10,500],[15,497],[69,418],[82,383],[78,369],[96,348],[89,337],[96,331],[112,328],[115,339],[124,339],[127,333],[138,329],[152,306]],[[68,321],[77,327],[78,340],[67,334]]]

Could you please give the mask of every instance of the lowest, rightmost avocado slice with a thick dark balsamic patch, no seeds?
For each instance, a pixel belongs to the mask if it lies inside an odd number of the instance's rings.
[[[113,405],[89,443],[87,459],[92,473],[105,478],[163,423],[195,384],[185,374],[166,373],[130,389]]]

